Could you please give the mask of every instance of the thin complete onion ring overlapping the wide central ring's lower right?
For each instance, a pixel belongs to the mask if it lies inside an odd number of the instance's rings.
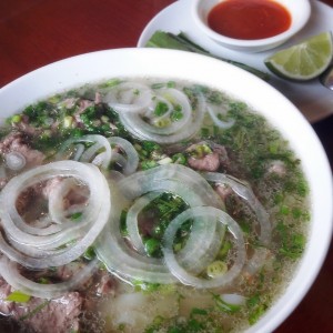
[[[176,256],[173,252],[173,240],[179,228],[189,219],[198,216],[209,216],[213,222],[220,222],[228,228],[228,231],[233,235],[236,248],[236,254],[233,265],[225,274],[218,275],[216,278],[205,280],[190,274],[185,269],[179,264]],[[225,212],[212,206],[195,206],[191,208],[183,213],[179,214],[167,228],[163,236],[162,251],[164,261],[170,272],[176,276],[183,284],[192,285],[195,287],[221,287],[231,283],[241,273],[245,263],[246,252],[243,239],[243,233],[239,224]],[[193,253],[195,255],[195,253]]]

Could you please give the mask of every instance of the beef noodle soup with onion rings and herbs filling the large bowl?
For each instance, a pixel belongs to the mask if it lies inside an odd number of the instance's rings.
[[[1,138],[8,332],[243,331],[304,250],[300,160],[213,88],[111,79],[27,107]]]

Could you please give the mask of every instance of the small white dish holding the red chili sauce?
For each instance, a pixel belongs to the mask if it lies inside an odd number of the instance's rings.
[[[309,0],[273,0],[282,4],[290,12],[292,18],[290,28],[286,31],[270,38],[255,40],[234,39],[215,32],[208,24],[210,11],[218,3],[223,1],[226,0],[193,0],[191,14],[194,22],[196,23],[198,29],[202,30],[209,38],[219,44],[229,49],[245,52],[260,52],[281,46],[305,26],[311,14],[311,4]]]

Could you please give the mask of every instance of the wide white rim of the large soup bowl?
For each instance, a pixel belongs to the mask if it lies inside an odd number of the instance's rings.
[[[8,117],[56,92],[113,77],[172,78],[221,89],[263,114],[290,141],[300,157],[311,189],[309,242],[285,292],[248,331],[272,332],[295,309],[312,285],[331,241],[332,175],[323,147],[313,129],[287,99],[256,77],[204,56],[162,49],[100,51],[43,67],[0,90],[1,117]]]

